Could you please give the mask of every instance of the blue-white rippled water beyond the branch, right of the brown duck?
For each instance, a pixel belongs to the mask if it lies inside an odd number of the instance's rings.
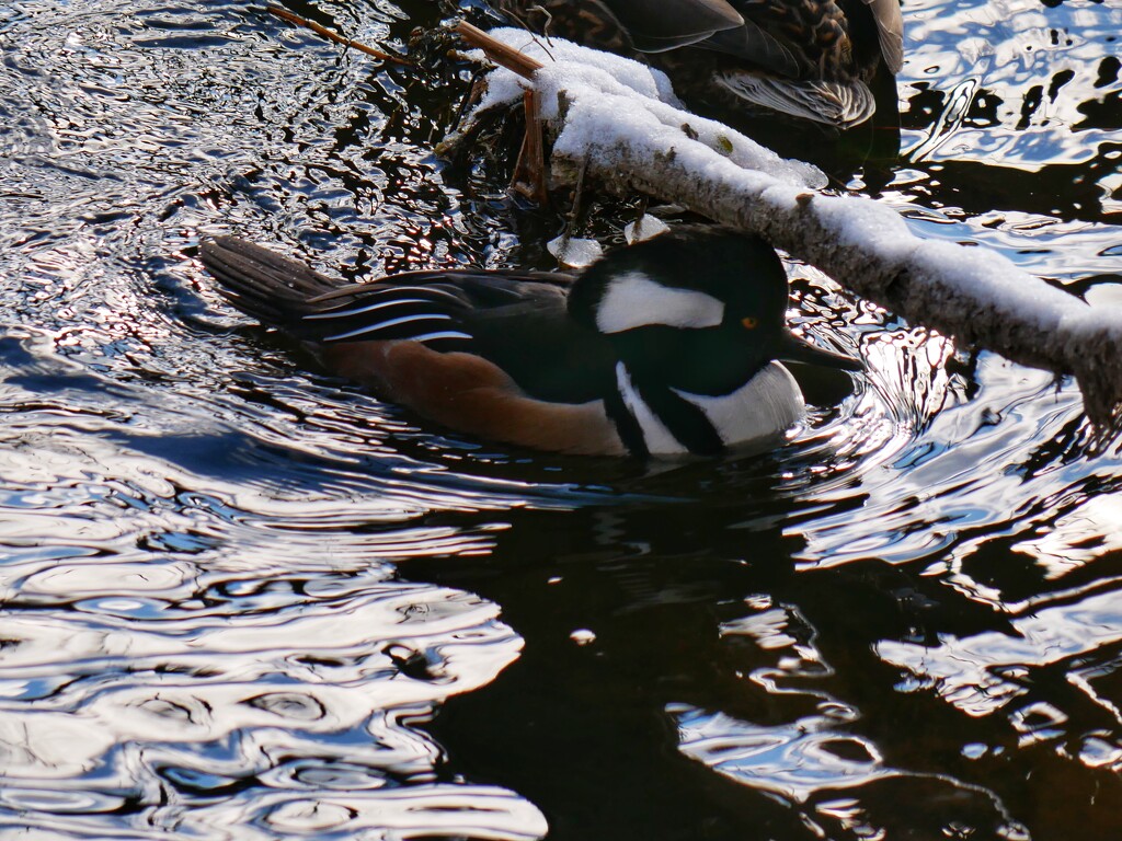
[[[899,94],[914,112],[883,198],[925,238],[978,242],[1070,283],[1118,270],[1122,7],[1047,6],[905,4]]]

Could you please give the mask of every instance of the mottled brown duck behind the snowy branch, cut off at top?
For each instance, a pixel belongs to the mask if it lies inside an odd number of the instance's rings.
[[[899,0],[496,0],[534,29],[647,54],[687,98],[856,126],[903,64]],[[543,13],[544,12],[544,13]]]

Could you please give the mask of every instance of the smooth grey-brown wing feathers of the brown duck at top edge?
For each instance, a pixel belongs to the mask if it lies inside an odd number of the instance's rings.
[[[661,53],[739,27],[744,19],[727,0],[601,0],[627,29],[635,48]]]

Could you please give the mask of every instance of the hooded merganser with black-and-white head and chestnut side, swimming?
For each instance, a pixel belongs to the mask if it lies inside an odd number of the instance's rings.
[[[332,373],[460,432],[564,453],[716,454],[803,415],[778,359],[859,370],[788,332],[762,240],[686,229],[574,276],[453,269],[347,284],[234,237],[203,242],[222,295]]]

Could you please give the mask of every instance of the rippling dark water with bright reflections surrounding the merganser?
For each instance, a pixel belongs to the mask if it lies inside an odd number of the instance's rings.
[[[1118,299],[1122,6],[904,17],[901,156],[835,175]],[[548,266],[430,153],[463,74],[210,1],[18,0],[0,58],[4,838],[1122,838],[1122,460],[1074,383],[793,267],[870,375],[788,446],[480,445],[193,259]]]

